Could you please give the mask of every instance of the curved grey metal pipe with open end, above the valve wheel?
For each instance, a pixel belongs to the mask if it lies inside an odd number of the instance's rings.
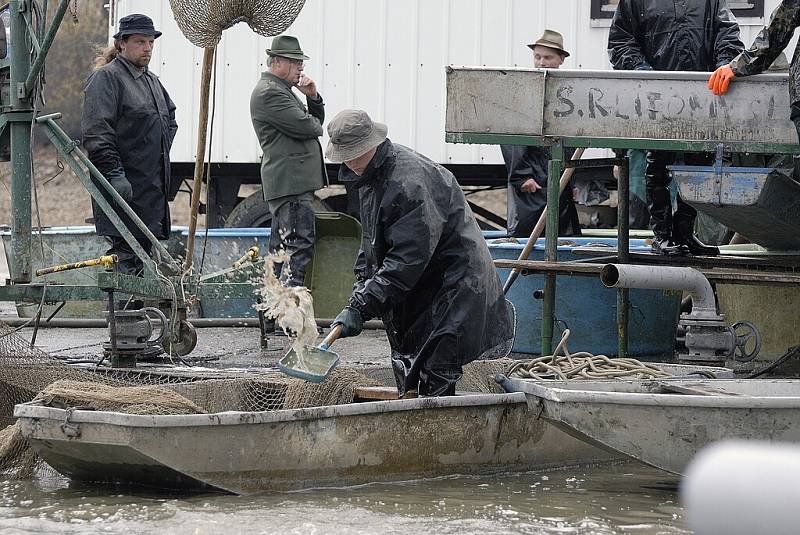
[[[692,295],[692,315],[718,318],[714,290],[702,273],[688,267],[608,264],[600,272],[607,288],[681,290]]]

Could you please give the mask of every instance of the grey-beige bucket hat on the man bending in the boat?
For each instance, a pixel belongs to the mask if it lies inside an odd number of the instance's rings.
[[[328,123],[325,157],[333,163],[358,158],[386,139],[389,128],[374,122],[363,110],[344,110]]]

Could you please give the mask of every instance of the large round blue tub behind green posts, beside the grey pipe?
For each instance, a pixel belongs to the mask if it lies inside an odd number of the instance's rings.
[[[519,258],[527,240],[519,243],[487,240],[492,258]],[[577,247],[608,247],[609,255],[616,253],[614,238],[560,238],[559,261],[589,258],[589,255],[573,252]],[[631,240],[631,251],[649,251],[644,240]],[[594,256],[594,255],[592,255]],[[529,260],[544,260],[544,238],[537,240]],[[508,278],[510,269],[498,269],[502,282]],[[514,351],[541,354],[542,301],[534,299],[533,293],[544,288],[543,275],[519,277],[506,296],[517,312],[517,333]],[[629,318],[628,352],[633,356],[672,356],[675,347],[675,332],[680,314],[680,292],[664,290],[630,290],[632,310]],[[571,334],[568,347],[571,352],[589,351],[595,355],[616,355],[617,339],[617,291],[603,286],[600,277],[559,276],[556,283],[556,335],[555,347],[561,330],[566,326]]]

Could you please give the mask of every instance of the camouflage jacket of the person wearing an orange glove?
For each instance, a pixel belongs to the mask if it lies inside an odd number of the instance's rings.
[[[783,0],[775,9],[769,24],[756,36],[753,44],[733,60],[736,76],[749,76],[767,70],[789,44],[794,30],[800,26],[800,0]],[[800,102],[800,42],[794,49],[789,67],[789,102]]]

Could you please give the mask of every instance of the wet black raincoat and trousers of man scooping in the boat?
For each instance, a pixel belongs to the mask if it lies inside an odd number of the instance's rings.
[[[363,237],[349,306],[380,317],[400,395],[452,394],[461,367],[506,355],[513,326],[486,241],[455,177],[386,140],[361,177]]]

